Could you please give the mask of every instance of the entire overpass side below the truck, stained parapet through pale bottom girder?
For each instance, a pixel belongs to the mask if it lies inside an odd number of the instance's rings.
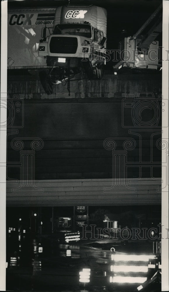
[[[8,76],[7,206],[161,204],[161,75],[70,83]]]

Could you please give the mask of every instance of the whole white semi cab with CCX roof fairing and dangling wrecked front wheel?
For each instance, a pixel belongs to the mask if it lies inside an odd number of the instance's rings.
[[[42,29],[39,57],[46,60],[48,70],[40,72],[47,94],[53,84],[85,72],[88,78],[102,78],[106,64],[107,11],[94,5],[60,6],[56,8],[53,27]],[[69,90],[69,88],[68,88]]]

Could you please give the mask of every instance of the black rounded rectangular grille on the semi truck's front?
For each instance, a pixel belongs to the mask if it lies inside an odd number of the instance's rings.
[[[50,53],[75,54],[77,46],[76,37],[53,36],[50,40]]]

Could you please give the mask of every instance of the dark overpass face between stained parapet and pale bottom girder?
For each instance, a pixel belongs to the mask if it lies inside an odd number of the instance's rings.
[[[161,138],[160,120],[159,127],[135,127],[132,108],[123,107],[123,112],[121,98],[104,99],[104,102],[24,101],[23,127],[8,133],[9,179],[21,179],[22,151],[13,147],[12,141],[22,141],[22,150],[29,152],[31,141],[37,138],[43,141],[42,147],[34,152],[38,180],[112,178],[112,150],[103,145],[105,139],[115,141],[115,151],[126,151],[126,177],[161,177],[161,149],[156,144]],[[146,113],[149,119],[153,118],[154,112]],[[19,125],[20,118],[17,114],[15,117]],[[126,140],[135,145],[125,150]]]

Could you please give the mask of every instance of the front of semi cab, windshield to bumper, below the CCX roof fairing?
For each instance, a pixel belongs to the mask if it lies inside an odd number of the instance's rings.
[[[47,57],[48,66],[63,63],[67,67],[70,60],[70,67],[77,67],[79,59],[90,60],[92,65],[105,64],[105,41],[103,32],[90,24],[56,25],[53,34],[39,45],[39,56]]]

